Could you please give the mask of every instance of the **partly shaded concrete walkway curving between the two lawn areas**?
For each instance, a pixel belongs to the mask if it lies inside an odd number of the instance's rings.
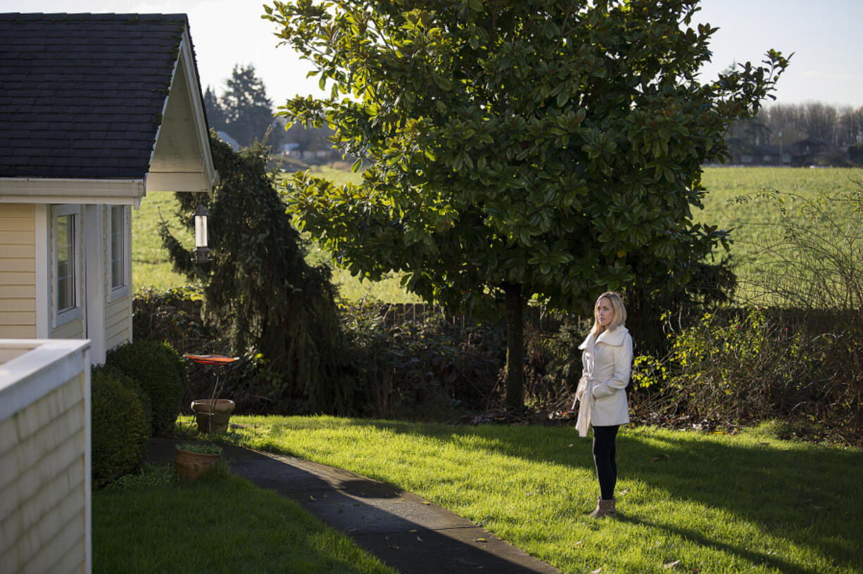
[[[173,462],[180,440],[150,439],[147,460]],[[293,498],[401,574],[559,574],[492,533],[419,496],[308,460],[225,446],[230,470]]]

